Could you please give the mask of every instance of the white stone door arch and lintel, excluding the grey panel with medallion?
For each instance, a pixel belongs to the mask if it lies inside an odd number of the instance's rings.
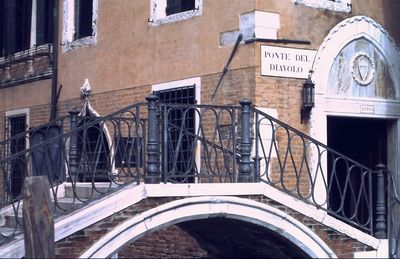
[[[327,141],[327,115],[328,111],[332,109],[329,105],[332,103],[336,103],[337,107],[340,107],[342,110],[347,108],[351,108],[350,99],[347,101],[345,98],[342,98],[342,102],[339,98],[333,99],[334,101],[330,101],[331,96],[328,96],[328,80],[330,76],[330,69],[335,62],[335,58],[338,54],[351,42],[363,39],[367,41],[369,44],[374,46],[376,50],[383,56],[388,68],[388,73],[392,79],[393,88],[394,88],[394,100],[391,100],[394,109],[388,109],[387,105],[384,104],[385,100],[378,99],[363,99],[363,98],[353,98],[353,108],[359,107],[360,105],[365,104],[365,100],[370,102],[376,102],[377,106],[379,106],[377,110],[383,111],[381,114],[372,114],[365,115],[360,114],[357,115],[355,112],[347,113],[348,115],[354,116],[374,116],[381,118],[396,118],[400,116],[400,113],[394,112],[392,114],[385,114],[387,111],[396,111],[398,110],[396,107],[400,104],[399,96],[400,96],[400,50],[396,46],[394,40],[390,37],[389,33],[377,22],[372,20],[366,16],[354,16],[348,19],[343,20],[339,24],[337,24],[325,37],[325,40],[322,42],[320,48],[318,49],[317,55],[315,57],[315,61],[313,64],[314,73],[312,75],[312,80],[315,83],[315,108],[311,114],[311,136],[318,139],[319,141],[326,143]],[[346,106],[347,103],[347,106]],[[383,104],[383,105],[382,105]],[[333,109],[334,110],[334,109]],[[333,112],[335,114],[335,112]],[[315,158],[318,159],[318,158]]]

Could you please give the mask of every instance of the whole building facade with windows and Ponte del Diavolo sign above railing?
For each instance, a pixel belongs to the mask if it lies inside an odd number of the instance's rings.
[[[396,0],[0,0],[0,136],[71,110],[105,116],[152,93],[181,104],[248,99],[397,176],[399,11]]]

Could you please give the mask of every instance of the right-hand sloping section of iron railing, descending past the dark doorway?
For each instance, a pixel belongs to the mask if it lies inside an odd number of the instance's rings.
[[[373,170],[257,109],[255,176],[373,233]]]

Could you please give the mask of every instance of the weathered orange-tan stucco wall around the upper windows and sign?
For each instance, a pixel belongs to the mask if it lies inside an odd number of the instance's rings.
[[[232,51],[232,45],[220,46],[220,36],[238,30],[240,15],[254,10],[279,14],[278,38],[311,42],[310,45],[269,45],[316,50],[336,24],[355,15],[371,17],[382,24],[397,42],[400,40],[396,23],[396,10],[400,10],[398,1],[352,0],[352,12],[346,13],[294,4],[293,0],[203,0],[200,16],[159,26],[148,22],[150,2],[99,1],[97,43],[68,53],[60,48],[58,85],[63,85],[60,114],[71,108],[69,100],[79,98],[79,88],[86,78],[92,86],[91,98],[102,100],[93,105],[96,110],[102,110],[102,114],[123,107],[127,102],[120,99],[126,92],[141,92],[131,96],[129,103],[142,101],[153,84],[192,77],[201,78],[202,103],[209,103],[209,96]],[[60,4],[60,41],[62,9],[63,4]],[[281,109],[278,112],[281,119],[295,119],[295,126],[298,124],[300,90],[304,80],[261,77],[259,43],[241,44],[229,68],[231,71],[224,78],[216,103],[237,103],[237,100],[247,97],[257,106]],[[243,75],[243,71],[252,69],[252,75],[248,72]],[[243,78],[238,80],[239,77]],[[237,86],[237,82],[242,85]],[[232,87],[244,87],[244,90],[230,91]],[[118,92],[120,90],[123,91]],[[48,107],[50,91],[50,80],[1,89],[0,111]],[[236,94],[236,98],[232,97]],[[107,97],[100,97],[102,95]],[[286,104],[284,100],[287,100]],[[282,114],[288,114],[287,118]]]

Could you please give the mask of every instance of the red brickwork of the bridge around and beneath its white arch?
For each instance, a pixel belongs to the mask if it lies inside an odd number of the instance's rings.
[[[321,223],[302,215],[297,211],[287,208],[285,205],[276,203],[263,196],[246,196],[262,203],[266,203],[296,218],[315,232],[335,252],[339,258],[350,258],[354,252],[367,251],[371,249],[335,229],[322,225]],[[93,245],[116,225],[133,217],[143,211],[160,206],[175,200],[174,198],[147,198],[123,211],[120,211],[84,230],[78,231],[71,236],[56,243],[56,255],[58,258],[76,258],[87,248]],[[134,257],[203,257],[207,256],[196,241],[177,226],[147,234],[132,244],[127,245],[119,251],[123,258]]]

